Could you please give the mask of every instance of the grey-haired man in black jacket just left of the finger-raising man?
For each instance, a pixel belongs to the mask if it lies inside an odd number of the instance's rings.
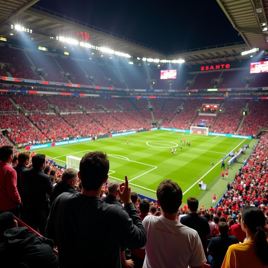
[[[77,171],[73,168],[65,169],[59,181],[51,190],[50,203],[53,204],[54,200],[62,193],[78,193],[75,188]]]

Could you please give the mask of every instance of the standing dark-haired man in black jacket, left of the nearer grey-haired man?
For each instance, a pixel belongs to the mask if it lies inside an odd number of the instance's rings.
[[[50,195],[53,185],[48,175],[44,174],[46,156],[36,154],[32,157],[32,169],[24,169],[21,172],[20,181],[23,196],[23,212],[26,223],[45,234],[47,222],[46,210],[49,206],[47,195]]]

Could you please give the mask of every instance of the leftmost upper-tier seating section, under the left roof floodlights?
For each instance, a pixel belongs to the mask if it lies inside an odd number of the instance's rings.
[[[10,73],[13,77],[41,80],[40,76],[32,71],[31,63],[23,50],[1,47],[0,59],[12,65],[13,70],[10,70]]]

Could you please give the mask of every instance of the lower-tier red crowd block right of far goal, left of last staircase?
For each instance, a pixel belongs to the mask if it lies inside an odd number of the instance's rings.
[[[211,132],[234,134],[242,118],[241,109],[245,101],[225,101],[224,113],[218,116],[217,121],[210,129]]]

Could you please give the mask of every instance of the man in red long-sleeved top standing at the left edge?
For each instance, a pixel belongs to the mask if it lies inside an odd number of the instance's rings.
[[[13,157],[12,146],[0,148],[0,214],[10,211],[18,217],[21,200],[17,189],[17,173],[10,166]]]

